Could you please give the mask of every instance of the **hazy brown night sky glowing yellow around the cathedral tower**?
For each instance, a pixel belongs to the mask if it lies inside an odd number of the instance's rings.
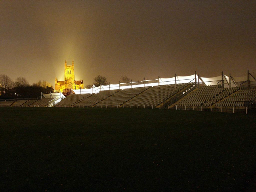
[[[117,84],[256,72],[256,1],[0,1],[0,74]]]

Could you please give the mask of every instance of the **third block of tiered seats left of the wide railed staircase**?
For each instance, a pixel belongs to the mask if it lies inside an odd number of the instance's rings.
[[[94,106],[102,100],[110,97],[111,95],[119,92],[120,90],[108,90],[108,91],[100,91],[97,94],[92,95],[91,97],[79,102],[76,106]]]

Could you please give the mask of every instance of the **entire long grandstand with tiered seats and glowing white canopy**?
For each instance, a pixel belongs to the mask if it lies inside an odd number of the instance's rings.
[[[255,108],[256,80],[247,76],[176,76],[91,89],[42,94],[35,99],[0,100],[0,107],[168,108],[208,110]],[[219,110],[220,109],[220,110]]]

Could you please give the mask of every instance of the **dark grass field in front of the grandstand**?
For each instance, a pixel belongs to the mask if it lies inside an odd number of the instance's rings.
[[[244,191],[256,114],[0,108],[0,191]]]

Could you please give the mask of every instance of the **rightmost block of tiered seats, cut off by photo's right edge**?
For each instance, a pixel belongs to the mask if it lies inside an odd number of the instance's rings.
[[[256,88],[248,90],[239,90],[224,100],[216,103],[216,107],[244,107],[246,101],[252,101],[256,98]]]

